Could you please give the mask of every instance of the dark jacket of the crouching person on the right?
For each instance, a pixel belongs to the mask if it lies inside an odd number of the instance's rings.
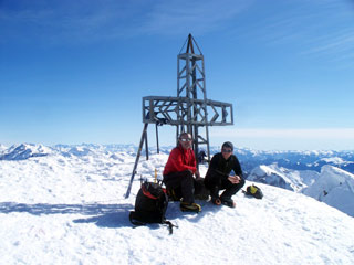
[[[218,152],[211,158],[206,179],[216,178],[217,176],[220,178],[228,178],[231,170],[235,171],[235,174],[238,174],[243,179],[242,169],[237,157],[231,155],[228,160],[225,160],[222,153]]]

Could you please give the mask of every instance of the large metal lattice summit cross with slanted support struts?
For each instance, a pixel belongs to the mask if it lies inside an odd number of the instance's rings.
[[[148,160],[148,124],[155,124],[156,126],[157,152],[159,152],[157,127],[160,125],[171,125],[176,126],[176,144],[178,142],[180,132],[189,132],[192,137],[192,148],[196,156],[199,153],[199,146],[206,145],[209,161],[208,127],[233,125],[232,104],[207,99],[204,55],[191,34],[188,35],[180,51],[185,46],[186,52],[178,54],[177,97],[143,97],[144,129],[125,198],[129,197],[144,142],[146,159]],[[199,53],[195,53],[195,47],[197,47]],[[201,127],[204,127],[205,134],[200,134]],[[196,160],[198,161],[197,158]]]

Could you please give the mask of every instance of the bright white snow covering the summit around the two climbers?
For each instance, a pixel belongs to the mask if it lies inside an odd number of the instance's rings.
[[[124,199],[134,151],[61,146],[46,156],[17,160],[12,153],[13,160],[0,160],[0,264],[354,263],[353,218],[262,183],[257,183],[262,200],[239,192],[236,209],[198,201],[202,211],[190,214],[170,202],[166,218],[178,225],[171,235],[159,224],[134,227],[128,213],[139,178],[153,180],[155,169],[162,178],[168,158],[168,152],[148,161],[143,156]],[[202,176],[206,170],[200,168]],[[323,170],[343,176],[335,168]]]

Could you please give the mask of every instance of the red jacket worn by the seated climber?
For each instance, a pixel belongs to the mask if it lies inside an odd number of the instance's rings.
[[[188,169],[195,173],[197,170],[196,166],[196,157],[192,149],[186,150],[181,146],[177,146],[170,151],[163,174],[166,176]]]

